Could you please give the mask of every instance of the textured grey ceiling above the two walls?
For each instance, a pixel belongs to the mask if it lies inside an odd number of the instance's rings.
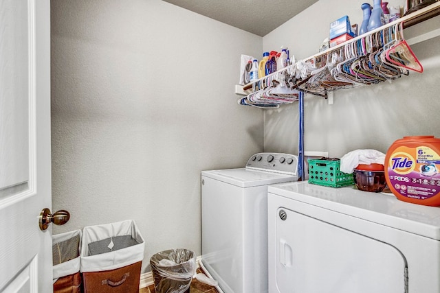
[[[227,23],[241,30],[265,36],[318,0],[164,0]]]

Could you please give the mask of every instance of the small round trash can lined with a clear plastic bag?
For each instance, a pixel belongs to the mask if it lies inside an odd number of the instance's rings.
[[[150,259],[156,293],[190,292],[197,269],[195,253],[184,248],[164,250]]]

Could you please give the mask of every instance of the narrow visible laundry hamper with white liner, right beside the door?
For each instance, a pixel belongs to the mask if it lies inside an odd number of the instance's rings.
[[[81,231],[52,236],[54,293],[79,293],[82,291],[80,274]]]

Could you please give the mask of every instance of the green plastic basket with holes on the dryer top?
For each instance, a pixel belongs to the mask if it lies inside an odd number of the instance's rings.
[[[354,184],[353,174],[340,172],[339,159],[308,160],[309,183],[327,187],[343,187]]]

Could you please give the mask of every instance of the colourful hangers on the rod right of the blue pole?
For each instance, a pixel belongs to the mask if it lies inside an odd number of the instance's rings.
[[[395,80],[423,67],[403,38],[403,27],[395,25],[359,38],[313,60],[318,69],[300,89],[307,91],[345,89],[362,84]]]

